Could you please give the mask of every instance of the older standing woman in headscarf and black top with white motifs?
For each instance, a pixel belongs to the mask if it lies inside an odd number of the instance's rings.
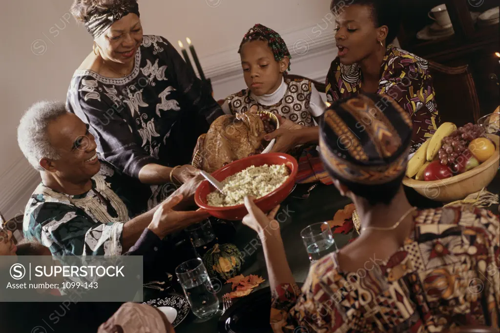
[[[161,36],[143,35],[136,0],[74,0],[93,37],[74,72],[67,104],[101,156],[146,184],[185,182],[198,136],[222,110]]]

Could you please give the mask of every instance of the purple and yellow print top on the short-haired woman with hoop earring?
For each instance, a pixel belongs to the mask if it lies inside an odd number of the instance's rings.
[[[394,98],[406,110],[413,122],[410,153],[434,134],[440,125],[429,64],[426,60],[388,47],[381,65],[379,94]],[[342,65],[335,58],[326,75],[326,96],[329,102],[358,94],[361,90],[361,68],[357,63]]]

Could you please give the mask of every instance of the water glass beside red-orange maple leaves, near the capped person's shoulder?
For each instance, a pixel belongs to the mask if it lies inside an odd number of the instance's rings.
[[[337,250],[327,222],[314,223],[305,227],[300,232],[300,237],[302,237],[302,242],[304,242],[311,263]]]

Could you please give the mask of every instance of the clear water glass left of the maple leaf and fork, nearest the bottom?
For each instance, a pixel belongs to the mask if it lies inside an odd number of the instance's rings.
[[[218,298],[201,259],[183,262],[175,274],[196,317],[206,319],[218,311]]]

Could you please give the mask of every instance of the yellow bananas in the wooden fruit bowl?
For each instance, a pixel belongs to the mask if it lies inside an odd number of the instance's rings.
[[[415,177],[416,180],[422,180],[425,167],[434,160],[441,148],[442,139],[455,130],[456,125],[450,122],[445,122],[439,126],[434,135],[428,138],[408,161],[406,177]]]

